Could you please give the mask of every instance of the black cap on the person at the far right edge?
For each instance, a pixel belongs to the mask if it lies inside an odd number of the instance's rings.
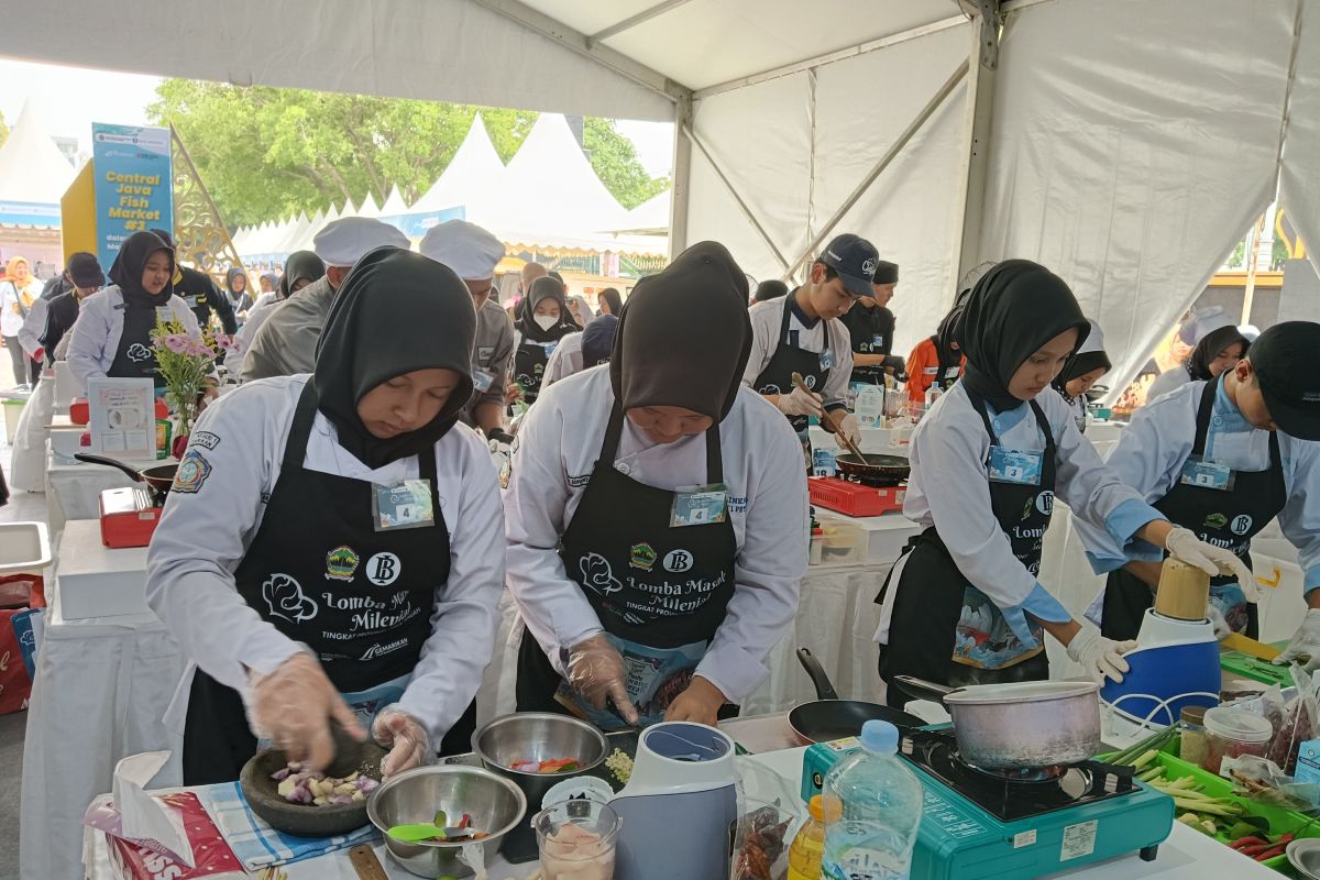
[[[1246,356],[1274,424],[1304,441],[1320,441],[1320,372],[1307,368],[1316,351],[1320,323],[1284,321],[1262,332]]]

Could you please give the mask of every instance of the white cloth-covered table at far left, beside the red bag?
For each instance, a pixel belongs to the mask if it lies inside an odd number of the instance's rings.
[[[183,658],[152,613],[65,620],[58,578],[46,596],[24,745],[20,876],[79,880],[83,813],[110,790],[120,759],[172,751],[160,784],[182,782],[182,735],[161,716]]]

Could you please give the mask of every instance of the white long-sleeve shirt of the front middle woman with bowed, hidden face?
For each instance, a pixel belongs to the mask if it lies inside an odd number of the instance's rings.
[[[558,546],[590,482],[612,406],[609,367],[569,376],[528,410],[513,451],[504,495],[508,586],[556,668],[561,646],[602,632],[582,588],[565,574]],[[750,389],[739,389],[719,424],[719,442],[738,558],[734,596],[696,673],[741,702],[770,674],[766,656],[797,611],[807,574],[807,480],[793,430]],[[624,418],[614,467],[656,488],[701,486],[706,439],[656,445]]]

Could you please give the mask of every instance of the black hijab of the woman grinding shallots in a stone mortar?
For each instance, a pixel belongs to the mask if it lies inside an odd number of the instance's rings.
[[[358,260],[317,340],[317,406],[338,430],[339,446],[371,468],[434,446],[473,396],[475,338],[473,297],[447,267],[393,247]],[[372,437],[358,417],[358,401],[414,369],[453,369],[458,387],[430,424],[388,439]]]

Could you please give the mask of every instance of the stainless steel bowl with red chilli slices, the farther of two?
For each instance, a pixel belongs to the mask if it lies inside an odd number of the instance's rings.
[[[569,715],[515,712],[502,715],[473,735],[473,752],[487,769],[513,780],[527,796],[531,813],[543,807],[545,793],[564,780],[581,776],[610,753],[605,734]],[[572,757],[578,769],[566,773],[524,773],[512,769],[517,761],[546,761]]]

